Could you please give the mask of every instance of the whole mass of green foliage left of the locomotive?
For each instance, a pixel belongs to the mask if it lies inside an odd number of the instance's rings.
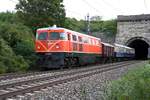
[[[34,65],[33,33],[16,18],[14,13],[0,13],[0,73],[25,71]]]

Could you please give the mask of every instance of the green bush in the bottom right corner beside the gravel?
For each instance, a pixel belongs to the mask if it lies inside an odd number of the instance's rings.
[[[150,100],[150,64],[129,71],[113,81],[106,91],[106,100]]]

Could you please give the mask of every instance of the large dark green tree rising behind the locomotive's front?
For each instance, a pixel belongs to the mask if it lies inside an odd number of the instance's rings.
[[[63,0],[19,0],[16,9],[19,18],[33,30],[54,24],[64,25]]]

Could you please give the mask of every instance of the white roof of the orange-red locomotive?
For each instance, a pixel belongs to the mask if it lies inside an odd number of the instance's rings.
[[[69,31],[69,32],[75,33],[75,34],[80,34],[80,35],[84,35],[84,36],[87,36],[87,37],[96,38],[98,40],[101,40],[100,38],[97,38],[97,37],[94,37],[94,36],[91,36],[91,35],[87,35],[87,34],[83,34],[83,33],[80,33],[80,32],[72,31],[72,30],[69,30],[69,29],[66,29],[66,28],[62,28],[62,27],[56,27],[55,25],[53,27],[46,27],[46,28],[37,29],[37,31],[40,31],[40,30],[64,30],[64,31]]]

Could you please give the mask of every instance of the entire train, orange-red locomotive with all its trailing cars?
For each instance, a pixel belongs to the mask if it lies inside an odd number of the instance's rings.
[[[62,27],[39,28],[36,31],[35,52],[43,68],[63,68],[122,59],[133,59],[133,48],[109,44],[100,38]]]

